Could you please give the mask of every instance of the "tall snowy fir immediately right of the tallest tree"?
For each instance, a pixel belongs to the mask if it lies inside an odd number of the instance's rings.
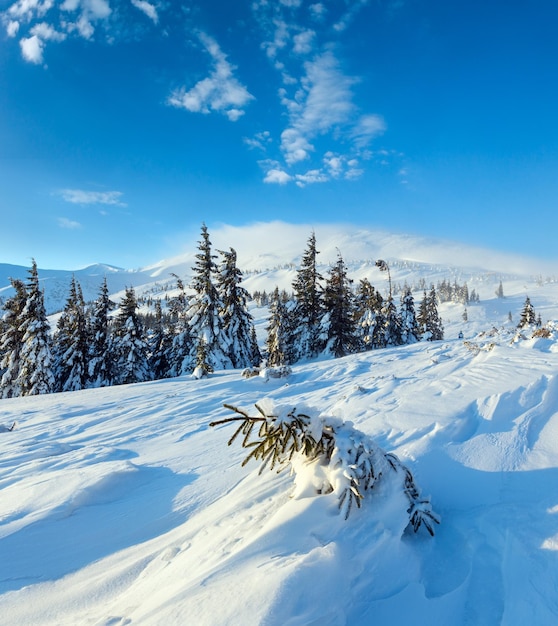
[[[236,265],[236,251],[220,251],[222,262],[217,277],[223,330],[228,338],[228,357],[233,367],[258,365],[261,355],[254,345],[254,318],[248,311],[248,292],[241,286],[242,272]]]

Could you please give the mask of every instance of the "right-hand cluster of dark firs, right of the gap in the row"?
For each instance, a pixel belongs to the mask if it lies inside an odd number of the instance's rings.
[[[278,289],[269,298],[266,357],[269,365],[290,365],[318,355],[354,352],[444,337],[434,286],[425,291],[418,312],[406,287],[396,305],[391,278],[387,298],[363,279],[355,287],[340,253],[324,279],[318,272],[316,238],[308,240],[293,282],[293,297]],[[378,261],[380,269],[389,268]]]

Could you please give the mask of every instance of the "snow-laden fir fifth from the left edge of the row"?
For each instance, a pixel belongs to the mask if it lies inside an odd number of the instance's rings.
[[[137,311],[136,294],[126,288],[120,311],[114,320],[115,384],[125,385],[151,380],[149,346]]]

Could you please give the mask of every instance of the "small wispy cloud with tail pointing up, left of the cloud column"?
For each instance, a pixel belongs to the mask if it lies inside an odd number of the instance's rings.
[[[205,33],[199,37],[213,61],[211,73],[191,89],[181,87],[173,91],[168,103],[192,113],[216,111],[235,122],[244,115],[244,107],[254,96],[234,77],[236,68],[227,61],[217,42]]]

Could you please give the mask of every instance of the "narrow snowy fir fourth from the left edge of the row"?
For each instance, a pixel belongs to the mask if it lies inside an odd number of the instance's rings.
[[[88,387],[108,387],[113,383],[116,363],[109,316],[115,308],[105,277],[89,314]]]

